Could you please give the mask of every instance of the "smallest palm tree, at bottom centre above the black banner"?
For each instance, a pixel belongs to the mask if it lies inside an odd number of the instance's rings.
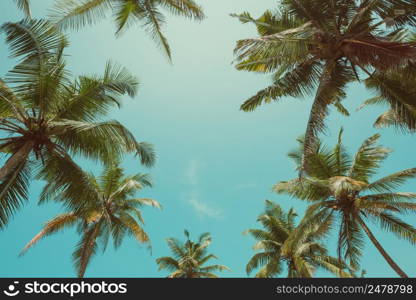
[[[211,235],[203,233],[196,242],[190,240],[189,232],[185,230],[186,242],[175,238],[168,238],[167,243],[173,257],[165,256],[156,260],[159,270],[172,272],[169,278],[217,278],[213,272],[230,270],[223,265],[204,266],[209,260],[216,259],[213,254],[207,253],[211,244]]]

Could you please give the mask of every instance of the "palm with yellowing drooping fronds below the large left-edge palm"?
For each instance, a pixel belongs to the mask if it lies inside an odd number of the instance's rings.
[[[44,170],[46,176],[48,171],[50,169]],[[108,164],[100,177],[86,172],[74,175],[77,178],[69,178],[65,186],[51,184],[43,189],[41,203],[59,201],[68,211],[48,221],[21,254],[43,237],[76,226],[81,239],[75,247],[73,260],[78,276],[84,277],[98,244],[105,251],[111,237],[115,248],[122,244],[126,234],[134,236],[139,243],[149,243],[142,228],[144,220],[140,208],[161,206],[153,199],[135,197],[138,191],[152,185],[147,174],[126,176],[117,163]]]

